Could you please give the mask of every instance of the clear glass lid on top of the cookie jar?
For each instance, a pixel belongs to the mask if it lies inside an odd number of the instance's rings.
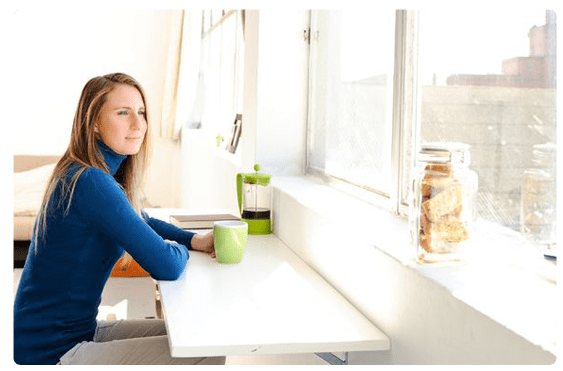
[[[469,144],[461,142],[421,143],[418,160],[433,163],[469,165]]]

